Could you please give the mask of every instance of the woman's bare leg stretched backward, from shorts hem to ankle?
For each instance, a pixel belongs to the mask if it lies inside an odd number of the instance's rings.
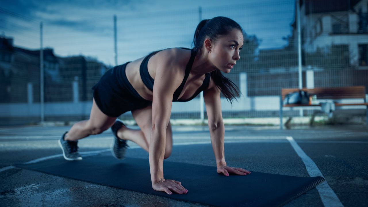
[[[91,134],[100,134],[109,129],[115,122],[116,117],[110,117],[102,113],[93,99],[91,115],[88,120],[75,123],[64,139],[68,141],[77,141],[81,138],[88,137]]]

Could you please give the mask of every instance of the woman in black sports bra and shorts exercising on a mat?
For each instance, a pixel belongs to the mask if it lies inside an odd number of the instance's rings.
[[[93,105],[89,120],[75,123],[59,144],[67,160],[80,160],[77,140],[100,134],[111,127],[113,155],[123,159],[126,141],[149,152],[152,188],[167,194],[187,193],[180,182],[163,178],[163,159],[171,154],[170,125],[173,101],[189,101],[203,91],[217,173],[247,175],[251,172],[226,165],[224,124],[220,92],[231,102],[238,94],[236,85],[222,76],[240,59],[243,29],[227,17],[199,22],[194,48],[169,48],[108,70],[92,87]],[[232,91],[231,91],[231,90]],[[141,130],[125,127],[117,117],[131,111]]]

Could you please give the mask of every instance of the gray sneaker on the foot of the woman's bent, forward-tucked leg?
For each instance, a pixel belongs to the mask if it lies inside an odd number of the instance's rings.
[[[111,147],[111,152],[116,157],[116,159],[124,159],[125,158],[125,152],[127,151],[127,148],[129,145],[127,144],[127,140],[122,140],[117,137],[117,131],[122,127],[125,126],[123,122],[120,119],[116,119],[113,126],[111,126],[111,131],[114,135],[114,142]]]

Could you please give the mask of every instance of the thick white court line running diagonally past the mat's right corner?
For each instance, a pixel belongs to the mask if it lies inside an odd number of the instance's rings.
[[[299,147],[299,145],[296,143],[293,137],[286,137],[286,139],[289,140],[291,146],[294,148],[294,150],[297,152],[299,157],[304,162],[304,165],[307,168],[309,176],[323,177],[317,165],[313,162],[313,160],[310,157],[308,157],[307,154],[305,154],[305,152]],[[333,190],[328,185],[326,180],[323,181],[321,184],[317,185],[316,188],[319,192],[319,195],[321,196],[322,203],[325,207],[343,207],[343,204],[341,203],[340,199],[336,196],[335,192],[333,192]]]

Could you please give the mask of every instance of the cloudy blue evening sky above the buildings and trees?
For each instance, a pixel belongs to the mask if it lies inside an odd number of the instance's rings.
[[[0,34],[20,48],[43,48],[55,55],[84,55],[115,65],[171,47],[192,48],[200,19],[225,16],[247,35],[261,39],[259,49],[282,48],[291,36],[295,0],[13,0],[0,1]]]

